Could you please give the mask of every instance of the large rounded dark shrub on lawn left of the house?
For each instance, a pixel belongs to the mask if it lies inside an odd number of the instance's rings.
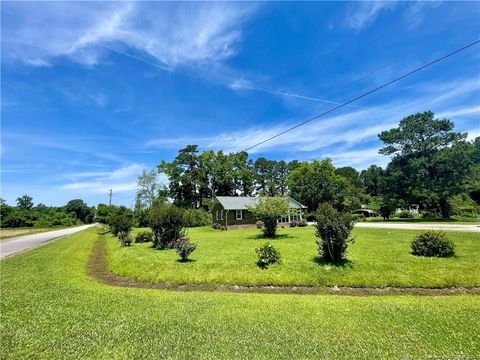
[[[153,207],[149,226],[153,231],[154,249],[171,249],[175,240],[185,235],[184,211],[175,205]]]

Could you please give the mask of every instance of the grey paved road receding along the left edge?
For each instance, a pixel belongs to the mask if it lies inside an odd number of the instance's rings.
[[[82,225],[69,229],[47,231],[39,234],[19,236],[15,238],[0,241],[0,259],[12,256],[16,253],[29,250],[31,248],[42,245],[43,243],[52,241],[62,236],[71,235],[76,232],[88,229],[95,224]]]

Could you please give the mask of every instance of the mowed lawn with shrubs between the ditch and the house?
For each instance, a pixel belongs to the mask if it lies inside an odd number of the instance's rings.
[[[325,264],[317,255],[315,229],[279,229],[270,241],[280,250],[282,262],[268,269],[256,265],[255,248],[264,243],[259,230],[219,231],[192,228],[197,243],[191,262],[178,262],[174,250],[153,250],[151,244],[122,247],[107,241],[109,268],[131,278],[169,283],[230,285],[317,285],[358,287],[473,287],[480,285],[480,234],[448,232],[457,246],[453,258],[413,256],[410,242],[421,231],[355,229],[356,241],[348,261]]]

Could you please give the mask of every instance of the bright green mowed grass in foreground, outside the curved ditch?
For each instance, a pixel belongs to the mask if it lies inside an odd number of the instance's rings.
[[[95,230],[89,229],[1,262],[2,359],[480,355],[478,296],[182,293],[112,287],[86,275],[95,240]]]

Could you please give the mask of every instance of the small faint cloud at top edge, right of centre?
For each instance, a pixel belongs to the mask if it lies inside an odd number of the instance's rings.
[[[397,6],[395,1],[362,1],[350,5],[344,24],[354,30],[370,26],[383,11],[391,11]]]

